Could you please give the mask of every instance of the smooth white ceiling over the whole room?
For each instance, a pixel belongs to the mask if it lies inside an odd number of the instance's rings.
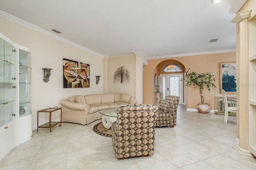
[[[244,2],[0,0],[0,10],[99,56],[139,51],[150,59],[235,51],[236,24],[230,21]]]

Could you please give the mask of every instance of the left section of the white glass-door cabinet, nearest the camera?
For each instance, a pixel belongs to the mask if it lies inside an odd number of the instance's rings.
[[[17,145],[17,45],[0,33],[0,160]]]

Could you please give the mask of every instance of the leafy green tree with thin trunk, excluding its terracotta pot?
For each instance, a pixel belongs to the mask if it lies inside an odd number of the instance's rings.
[[[190,68],[188,68],[188,70],[189,69]],[[212,87],[216,88],[215,84],[213,83],[215,81],[214,74],[211,74],[211,72],[202,73],[202,74],[197,74],[195,72],[191,72],[189,74],[187,73],[188,71],[186,71],[186,75],[180,81],[184,81],[184,86],[191,86],[192,84],[194,86],[199,86],[201,102],[202,104],[204,104],[204,96],[203,96],[204,86],[206,86],[209,91],[211,91],[210,88]]]

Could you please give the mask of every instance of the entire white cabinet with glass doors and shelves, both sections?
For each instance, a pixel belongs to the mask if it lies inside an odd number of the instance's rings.
[[[31,139],[30,51],[0,33],[0,160]]]

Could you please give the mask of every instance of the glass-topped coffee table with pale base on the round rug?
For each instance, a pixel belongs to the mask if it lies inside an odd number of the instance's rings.
[[[116,121],[117,109],[106,109],[99,111],[102,114],[102,124],[105,128],[110,129],[111,124]]]

